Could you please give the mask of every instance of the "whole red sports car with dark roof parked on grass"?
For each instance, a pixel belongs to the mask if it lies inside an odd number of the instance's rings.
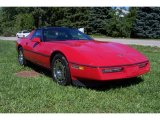
[[[68,85],[78,79],[132,78],[150,70],[149,60],[123,44],[100,42],[77,29],[45,27],[16,43],[20,65],[27,61],[52,71],[53,80]]]

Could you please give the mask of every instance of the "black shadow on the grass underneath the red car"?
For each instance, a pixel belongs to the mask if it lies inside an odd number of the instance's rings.
[[[34,71],[44,74],[50,78],[52,78],[51,71],[35,65],[33,63],[28,64],[28,67],[33,69]],[[105,91],[110,89],[117,89],[117,88],[125,88],[133,85],[137,85],[144,80],[141,77],[135,77],[135,78],[128,78],[128,79],[120,79],[120,80],[110,80],[110,81],[95,81],[95,80],[86,80],[86,79],[78,79],[73,80],[73,86],[78,88],[87,88],[87,89],[93,89],[96,91]]]

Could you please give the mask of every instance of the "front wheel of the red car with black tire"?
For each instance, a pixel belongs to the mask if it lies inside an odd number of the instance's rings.
[[[52,59],[51,65],[54,81],[64,86],[71,84],[68,62],[62,54],[56,54]]]

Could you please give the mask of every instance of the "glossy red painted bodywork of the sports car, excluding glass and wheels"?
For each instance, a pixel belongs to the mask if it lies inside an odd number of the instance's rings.
[[[31,33],[31,35],[33,32]],[[17,47],[23,47],[24,56],[29,61],[50,69],[50,59],[54,52],[61,52],[69,62],[71,77],[91,80],[113,80],[132,78],[150,70],[148,59],[137,50],[123,44],[94,40],[67,40],[54,42],[33,42],[31,35],[17,40]],[[147,65],[139,67],[139,63]],[[78,70],[72,64],[84,67]],[[102,73],[108,67],[123,67],[121,72]]]

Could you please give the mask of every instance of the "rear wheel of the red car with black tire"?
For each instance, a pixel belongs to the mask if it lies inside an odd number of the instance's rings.
[[[27,61],[26,61],[26,59],[24,57],[23,48],[22,47],[20,47],[18,49],[18,62],[22,66],[26,66],[27,65]]]

